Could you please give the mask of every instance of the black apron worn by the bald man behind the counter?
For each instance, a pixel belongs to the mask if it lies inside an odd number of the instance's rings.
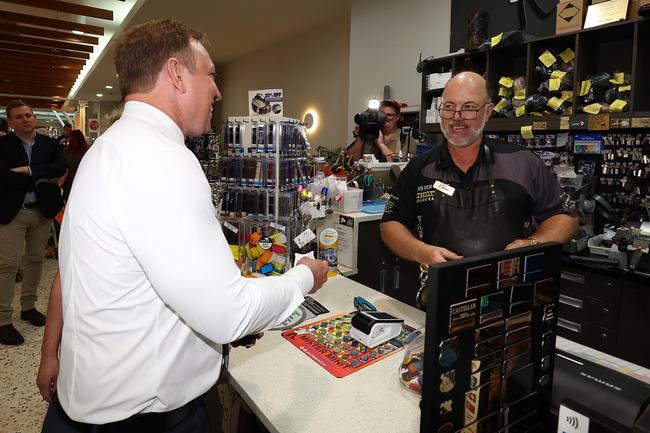
[[[469,257],[503,250],[513,240],[526,237],[530,209],[506,199],[494,181],[493,151],[485,144],[483,149],[487,184],[468,182],[451,196],[434,190],[432,202],[421,215],[422,240],[427,244]]]

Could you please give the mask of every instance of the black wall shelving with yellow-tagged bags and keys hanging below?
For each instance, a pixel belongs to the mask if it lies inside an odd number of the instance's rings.
[[[501,41],[487,50],[428,60],[420,118],[426,119],[428,111],[428,119],[436,119],[433,111],[444,86],[436,77],[464,70],[482,74],[498,107],[486,133],[555,158],[554,163],[572,163],[576,170],[584,161],[593,162],[592,191],[612,205],[617,218],[647,220],[648,52],[650,20],[637,20],[514,45]],[[441,132],[433,122],[421,129]]]

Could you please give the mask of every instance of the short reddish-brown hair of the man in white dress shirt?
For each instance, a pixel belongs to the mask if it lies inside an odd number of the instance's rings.
[[[149,21],[121,35],[116,43],[115,70],[122,98],[150,91],[170,57],[178,57],[187,69],[196,72],[190,45],[193,39],[204,42],[205,36],[171,19]]]

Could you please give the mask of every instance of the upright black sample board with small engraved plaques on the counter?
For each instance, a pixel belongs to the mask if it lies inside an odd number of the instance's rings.
[[[423,433],[546,432],[560,244],[432,265]]]

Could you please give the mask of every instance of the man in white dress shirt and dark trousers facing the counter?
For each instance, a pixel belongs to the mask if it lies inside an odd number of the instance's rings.
[[[44,432],[207,432],[201,396],[221,345],[282,322],[327,279],[327,263],[309,259],[281,277],[240,276],[184,145],[210,129],[221,99],[202,37],[164,20],[116,45],[126,104],[84,157],[66,208]]]

